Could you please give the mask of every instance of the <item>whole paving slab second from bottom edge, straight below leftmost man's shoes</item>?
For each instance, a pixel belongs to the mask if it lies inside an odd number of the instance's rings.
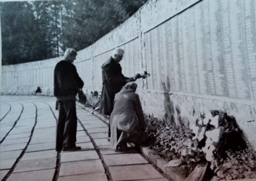
[[[100,160],[86,160],[62,163],[59,175],[65,176],[100,172],[104,173],[104,167]]]

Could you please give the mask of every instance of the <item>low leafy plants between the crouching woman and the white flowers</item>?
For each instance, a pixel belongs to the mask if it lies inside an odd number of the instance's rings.
[[[188,176],[198,163],[205,162],[204,154],[197,149],[192,149],[192,147],[196,147],[196,143],[192,143],[191,149],[187,149],[185,143],[193,136],[190,129],[184,126],[170,125],[170,123],[153,116],[145,117],[146,133],[157,140],[152,149],[167,161],[180,159],[179,169],[182,170],[184,176]],[[184,155],[184,151],[187,154]]]

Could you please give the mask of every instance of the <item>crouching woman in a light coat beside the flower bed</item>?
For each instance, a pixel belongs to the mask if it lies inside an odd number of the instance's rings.
[[[135,93],[137,84],[129,82],[115,94],[114,107],[110,115],[110,148],[126,151],[127,143],[145,144],[148,135],[139,95]]]

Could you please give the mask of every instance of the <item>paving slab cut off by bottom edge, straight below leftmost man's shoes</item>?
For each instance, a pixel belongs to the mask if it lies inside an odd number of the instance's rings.
[[[60,176],[58,181],[108,181],[105,173],[89,173],[86,175]]]

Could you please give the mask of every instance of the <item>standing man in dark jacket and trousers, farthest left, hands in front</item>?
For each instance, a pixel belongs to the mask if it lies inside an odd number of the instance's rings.
[[[54,96],[59,104],[59,117],[56,129],[56,151],[75,151],[76,146],[76,93],[84,82],[79,77],[75,65],[76,50],[67,48],[62,61],[54,69]]]

